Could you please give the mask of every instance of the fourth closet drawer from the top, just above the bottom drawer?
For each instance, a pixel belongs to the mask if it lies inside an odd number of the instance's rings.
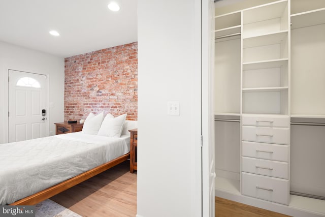
[[[289,163],[242,157],[242,171],[288,179]]]

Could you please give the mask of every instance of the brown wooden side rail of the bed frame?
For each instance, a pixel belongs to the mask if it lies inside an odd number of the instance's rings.
[[[30,195],[28,197],[25,197],[21,200],[18,200],[12,204],[9,205],[35,205],[43,200],[46,200],[54,195],[57,195],[67,189],[70,189],[71,187],[74,187],[75,185],[95,176],[98,175],[102,172],[104,172],[105,170],[108,170],[124,161],[126,161],[127,159],[129,159],[130,157],[130,153],[126,153],[124,155],[122,155],[121,157],[118,157],[112,161],[109,161],[105,164],[102,164],[98,167],[95,167],[91,170],[88,170],[84,173],[81,173],[75,177],[72,177],[66,181],[63,181],[61,183],[58,183],[56,185],[53,185],[52,187],[45,189],[43,191],[40,191],[34,195]]]

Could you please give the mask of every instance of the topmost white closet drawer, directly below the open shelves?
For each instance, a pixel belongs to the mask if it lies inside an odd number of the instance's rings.
[[[243,115],[242,125],[249,126],[262,126],[262,127],[289,127],[289,117],[277,117],[277,116],[253,116],[253,115]]]

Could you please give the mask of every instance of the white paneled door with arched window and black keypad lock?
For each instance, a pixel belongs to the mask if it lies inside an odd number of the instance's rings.
[[[45,137],[46,76],[9,70],[8,82],[9,142]]]

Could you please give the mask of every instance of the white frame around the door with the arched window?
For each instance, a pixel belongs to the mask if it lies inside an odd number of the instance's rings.
[[[8,78],[9,78],[9,70],[13,70],[13,71],[19,71],[19,72],[25,72],[25,73],[31,73],[31,74],[38,74],[38,75],[45,75],[45,82],[46,82],[46,113],[47,113],[47,121],[46,121],[46,136],[49,136],[49,122],[50,122],[50,110],[49,110],[49,75],[48,74],[44,74],[44,73],[38,73],[37,70],[28,70],[28,69],[21,69],[19,67],[8,67],[6,69],[6,78],[4,80],[4,88],[5,88],[5,104],[4,104],[4,126],[5,126],[5,143],[8,143],[9,141],[9,85],[8,85]],[[35,71],[35,72],[33,72]]]

